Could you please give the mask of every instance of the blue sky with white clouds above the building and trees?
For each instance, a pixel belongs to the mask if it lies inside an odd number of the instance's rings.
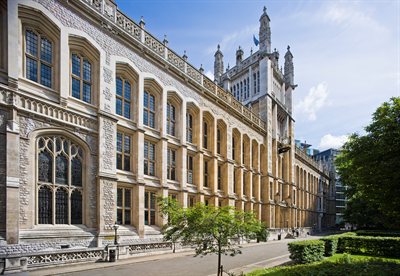
[[[117,0],[118,7],[189,62],[213,72],[216,45],[225,66],[240,45],[247,57],[264,6],[272,48],[294,55],[296,139],[325,149],[363,132],[371,114],[400,96],[400,0]]]

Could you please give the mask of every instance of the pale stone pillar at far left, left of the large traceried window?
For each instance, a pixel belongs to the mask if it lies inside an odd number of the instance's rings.
[[[11,110],[6,127],[6,241],[19,243],[19,125],[17,111]]]

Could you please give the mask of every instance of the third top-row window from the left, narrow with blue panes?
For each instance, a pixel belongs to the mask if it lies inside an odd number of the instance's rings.
[[[116,79],[115,110],[118,115],[131,118],[131,83],[122,77]]]

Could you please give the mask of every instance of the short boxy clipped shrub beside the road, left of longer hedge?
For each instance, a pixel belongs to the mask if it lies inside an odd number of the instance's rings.
[[[312,263],[324,258],[325,243],[320,240],[291,242],[288,244],[290,258],[297,263]]]

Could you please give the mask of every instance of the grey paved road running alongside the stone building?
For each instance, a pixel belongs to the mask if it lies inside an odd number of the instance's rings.
[[[278,256],[287,258],[289,253],[287,243],[293,240],[268,242],[257,245],[247,245],[242,248],[242,254],[235,257],[223,256],[224,270],[234,270],[236,273],[243,267],[256,267],[252,264],[266,264],[266,260],[276,259]],[[177,257],[175,257],[177,255]],[[134,276],[205,276],[216,274],[217,256],[193,257],[193,254],[168,254],[157,256],[151,260],[130,264],[120,264],[113,267],[90,269],[86,271],[65,273],[70,276],[105,276],[105,275],[134,275]],[[59,274],[60,275],[60,274]]]

